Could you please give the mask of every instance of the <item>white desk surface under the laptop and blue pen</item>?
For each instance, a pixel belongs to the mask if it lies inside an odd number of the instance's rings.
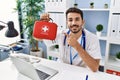
[[[71,66],[69,64],[50,61],[41,58],[39,64],[46,65],[59,71],[50,80],[85,80],[86,74],[88,80],[120,80],[119,76],[111,75],[103,72],[92,72],[86,68]],[[37,64],[37,65],[39,65]],[[16,70],[10,58],[0,62],[0,80],[32,80]]]

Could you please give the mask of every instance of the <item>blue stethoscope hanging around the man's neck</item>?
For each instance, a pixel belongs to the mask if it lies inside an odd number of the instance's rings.
[[[67,34],[70,34],[70,30],[67,31]],[[66,36],[64,37],[64,45],[66,44]],[[83,47],[83,49],[85,50],[85,46],[86,46],[86,38],[85,38],[85,32],[84,30],[82,30],[82,38],[79,42],[81,44],[81,46]],[[74,56],[72,55],[72,47],[70,46],[70,64],[73,64],[73,60],[78,56],[78,53],[76,53]],[[67,57],[67,56],[66,56]]]

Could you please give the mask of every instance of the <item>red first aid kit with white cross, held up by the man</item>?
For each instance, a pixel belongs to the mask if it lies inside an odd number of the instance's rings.
[[[37,39],[54,40],[57,34],[57,24],[47,21],[35,21],[33,37]]]

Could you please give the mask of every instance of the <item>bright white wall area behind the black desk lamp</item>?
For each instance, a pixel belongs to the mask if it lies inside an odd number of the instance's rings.
[[[0,21],[3,21],[5,23],[7,23],[8,21],[13,21],[15,28],[19,32],[19,22],[17,15],[18,13],[15,12],[13,9],[15,7],[16,7],[16,0],[0,0]],[[5,25],[5,24],[0,22],[0,25]],[[20,34],[15,38],[5,37],[6,30],[7,27],[0,31],[0,44],[7,45],[20,39]]]

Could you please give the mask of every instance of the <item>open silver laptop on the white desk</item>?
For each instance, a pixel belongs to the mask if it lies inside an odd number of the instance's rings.
[[[35,67],[32,63],[30,63],[29,57],[26,55],[12,54],[10,55],[10,58],[17,70],[32,80],[49,80],[58,73],[57,70],[43,66],[41,64]]]

